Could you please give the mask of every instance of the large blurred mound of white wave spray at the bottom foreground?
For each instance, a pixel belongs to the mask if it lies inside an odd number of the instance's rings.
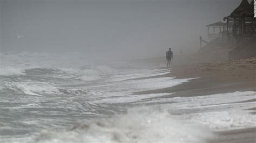
[[[85,121],[66,131],[42,131],[34,142],[205,142],[212,133],[168,112],[138,108]]]

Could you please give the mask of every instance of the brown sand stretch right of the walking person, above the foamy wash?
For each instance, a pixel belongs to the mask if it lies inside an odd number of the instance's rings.
[[[255,91],[256,58],[173,66],[170,68],[170,74],[160,76],[196,79],[172,88],[136,92],[134,94],[176,92],[176,94],[172,94],[172,97],[175,97],[210,95],[232,91]],[[160,76],[156,76],[156,78]]]

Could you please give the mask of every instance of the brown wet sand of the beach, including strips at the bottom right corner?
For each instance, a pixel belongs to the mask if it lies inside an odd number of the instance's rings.
[[[173,66],[170,70],[170,74],[155,77],[175,76],[196,79],[171,88],[134,92],[134,94],[174,93],[163,97],[166,98],[256,91],[256,57],[219,63]],[[241,102],[255,102],[255,100]],[[248,110],[251,110],[252,114],[256,113],[256,108]],[[256,142],[256,128],[221,131],[215,134],[216,138],[209,142]]]

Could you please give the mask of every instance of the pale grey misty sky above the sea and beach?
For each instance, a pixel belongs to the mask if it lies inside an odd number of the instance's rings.
[[[241,0],[1,1],[2,51],[83,52],[124,59],[199,48],[205,25]],[[24,35],[17,38],[16,33]],[[3,44],[4,43],[4,44]]]

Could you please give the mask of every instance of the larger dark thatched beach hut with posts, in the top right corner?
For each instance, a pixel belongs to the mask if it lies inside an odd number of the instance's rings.
[[[240,44],[256,34],[256,18],[253,17],[253,5],[253,1],[250,4],[247,0],[242,0],[230,16],[224,17],[226,35],[229,40],[233,37],[237,44]]]

